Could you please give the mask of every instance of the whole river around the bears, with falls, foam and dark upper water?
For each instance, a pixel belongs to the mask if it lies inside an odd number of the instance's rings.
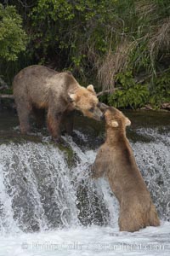
[[[77,117],[66,147],[47,131],[20,136],[14,113],[0,113],[0,255],[169,255],[170,113],[127,112],[127,137],[161,218],[160,227],[118,230],[119,206],[89,167],[104,125]]]

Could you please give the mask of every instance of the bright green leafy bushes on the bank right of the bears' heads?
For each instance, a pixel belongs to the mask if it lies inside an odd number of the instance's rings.
[[[161,108],[163,102],[170,102],[169,71],[161,73],[152,82],[148,79],[149,81],[145,84],[137,83],[132,72],[118,73],[115,81],[120,89],[107,97],[109,104],[116,108],[136,109],[150,103],[152,108]]]

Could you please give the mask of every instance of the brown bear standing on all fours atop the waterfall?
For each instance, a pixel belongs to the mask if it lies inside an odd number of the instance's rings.
[[[58,73],[39,65],[26,67],[14,77],[13,89],[22,133],[30,131],[31,113],[41,123],[44,109],[48,110],[48,130],[54,139],[59,139],[60,124],[64,119],[65,128],[71,133],[74,109],[97,120],[103,116],[94,86],[80,86],[68,72]]]

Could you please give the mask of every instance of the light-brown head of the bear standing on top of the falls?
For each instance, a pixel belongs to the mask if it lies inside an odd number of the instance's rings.
[[[87,88],[79,86],[74,93],[69,94],[69,97],[74,108],[81,111],[83,115],[98,121],[104,118],[104,114],[99,109],[99,100],[92,84],[88,85]]]

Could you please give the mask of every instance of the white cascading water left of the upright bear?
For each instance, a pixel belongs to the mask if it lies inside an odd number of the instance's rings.
[[[14,230],[14,225],[25,231],[47,230],[77,225],[80,219],[86,224],[107,223],[107,214],[102,214],[105,204],[97,195],[99,189],[88,177],[88,165],[95,154],[82,153],[71,144],[77,157],[72,168],[67,166],[65,154],[49,144],[0,146],[3,230]]]

